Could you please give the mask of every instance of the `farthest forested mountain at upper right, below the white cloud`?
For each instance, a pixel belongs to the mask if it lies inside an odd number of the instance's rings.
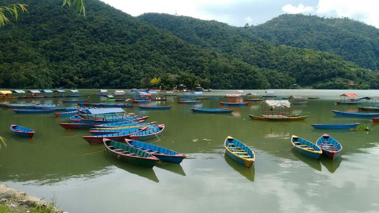
[[[271,44],[335,53],[365,69],[379,69],[379,29],[362,22],[286,14],[249,30]]]

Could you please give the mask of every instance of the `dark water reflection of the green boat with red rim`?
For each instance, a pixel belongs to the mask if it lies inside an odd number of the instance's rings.
[[[124,161],[119,161],[116,158],[112,157],[107,152],[104,152],[104,158],[111,163],[112,165],[118,167],[119,169],[125,170],[128,173],[148,178],[154,182],[159,182],[158,177],[156,177],[154,170],[152,168],[146,168],[143,166],[138,166],[130,163],[126,163]]]

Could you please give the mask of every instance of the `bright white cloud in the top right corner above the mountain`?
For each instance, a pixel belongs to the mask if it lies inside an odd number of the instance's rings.
[[[316,14],[349,17],[379,28],[378,0],[319,0]]]

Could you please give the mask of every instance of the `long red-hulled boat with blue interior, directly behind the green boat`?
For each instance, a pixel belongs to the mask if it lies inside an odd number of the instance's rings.
[[[122,131],[118,133],[113,133],[113,134],[107,134],[107,135],[99,135],[99,136],[82,136],[82,138],[90,143],[90,144],[97,144],[97,143],[102,143],[103,138],[111,139],[113,141],[118,141],[122,142],[125,139],[128,139],[131,135],[145,131],[147,127],[142,127],[142,128],[131,128],[128,129],[128,131]]]

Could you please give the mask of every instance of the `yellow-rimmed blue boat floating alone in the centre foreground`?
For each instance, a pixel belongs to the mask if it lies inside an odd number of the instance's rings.
[[[254,151],[244,143],[230,136],[224,142],[226,154],[237,163],[250,168],[255,161]]]

